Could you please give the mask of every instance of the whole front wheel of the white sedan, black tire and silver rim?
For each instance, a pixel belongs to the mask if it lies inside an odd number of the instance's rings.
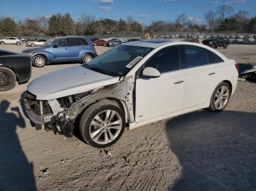
[[[107,120],[106,116],[112,117]],[[112,128],[111,123],[113,123]],[[124,112],[115,101],[108,100],[99,101],[89,106],[83,112],[79,124],[80,136],[83,141],[97,148],[109,147],[116,143],[124,133],[124,127]]]

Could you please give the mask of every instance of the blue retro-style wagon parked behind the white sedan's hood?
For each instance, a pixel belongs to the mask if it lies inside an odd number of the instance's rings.
[[[43,67],[48,63],[89,63],[97,52],[94,45],[83,36],[63,36],[49,39],[42,47],[27,49],[33,66]]]

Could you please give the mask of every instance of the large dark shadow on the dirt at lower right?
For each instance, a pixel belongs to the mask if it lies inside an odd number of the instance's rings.
[[[193,112],[166,133],[182,166],[170,190],[256,190],[256,113]]]

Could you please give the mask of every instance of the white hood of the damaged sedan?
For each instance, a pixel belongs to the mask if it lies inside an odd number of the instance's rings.
[[[118,80],[119,77],[111,77],[77,66],[34,79],[28,85],[28,91],[36,95],[38,100],[53,100],[112,85]]]

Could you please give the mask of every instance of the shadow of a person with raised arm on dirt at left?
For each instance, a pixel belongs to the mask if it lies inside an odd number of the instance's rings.
[[[33,163],[29,163],[20,145],[17,128],[25,128],[18,107],[0,102],[0,190],[37,190]],[[7,125],[8,124],[8,125]]]

